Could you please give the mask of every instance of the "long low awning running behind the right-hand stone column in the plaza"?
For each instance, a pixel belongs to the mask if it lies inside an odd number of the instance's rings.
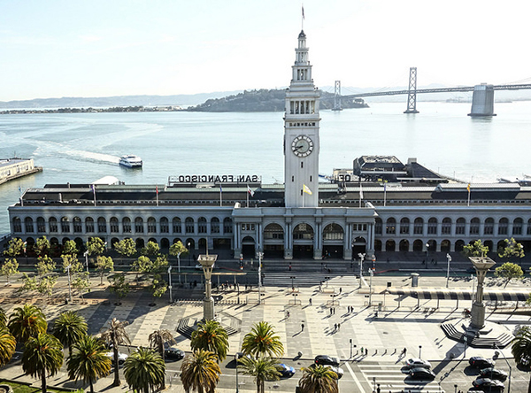
[[[471,289],[449,289],[449,288],[432,288],[432,289],[387,289],[391,295],[414,297],[421,300],[472,300]],[[529,297],[529,291],[519,290],[489,290],[484,292],[483,300],[493,300],[498,302],[517,302],[526,301]]]

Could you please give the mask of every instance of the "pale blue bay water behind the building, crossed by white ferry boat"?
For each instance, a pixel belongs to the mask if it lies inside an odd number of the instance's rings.
[[[351,168],[362,155],[417,158],[466,182],[531,174],[531,102],[496,103],[496,117],[470,118],[470,104],[369,103],[323,111],[319,173]],[[165,185],[180,174],[258,174],[283,182],[283,113],[130,112],[0,115],[0,158],[34,158],[42,173],[0,185],[0,235],[19,188],[88,183],[106,175],[127,184]],[[135,154],[142,169],[119,166]]]

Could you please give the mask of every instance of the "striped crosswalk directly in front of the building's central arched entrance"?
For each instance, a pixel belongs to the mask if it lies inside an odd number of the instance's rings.
[[[319,272],[266,272],[262,283],[269,287],[291,287],[293,284],[296,288],[308,288],[319,286],[321,281],[324,281],[323,288],[333,287],[347,290],[359,286],[359,281],[353,274],[332,276]]]

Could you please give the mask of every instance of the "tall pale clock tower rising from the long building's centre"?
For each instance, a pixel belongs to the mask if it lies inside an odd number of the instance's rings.
[[[312,65],[302,30],[295,53],[284,115],[284,199],[286,207],[317,207],[319,92],[313,85]]]

